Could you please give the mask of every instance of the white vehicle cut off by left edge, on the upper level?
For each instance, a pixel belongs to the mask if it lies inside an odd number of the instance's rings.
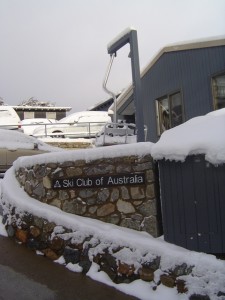
[[[13,107],[0,106],[0,128],[1,129],[18,129],[20,118]]]

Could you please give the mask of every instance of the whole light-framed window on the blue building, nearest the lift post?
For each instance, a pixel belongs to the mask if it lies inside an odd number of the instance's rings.
[[[180,125],[184,121],[180,92],[163,96],[156,100],[158,134]]]

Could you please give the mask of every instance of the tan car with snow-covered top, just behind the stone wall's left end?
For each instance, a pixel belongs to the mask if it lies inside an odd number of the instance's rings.
[[[65,151],[15,130],[0,129],[0,176],[20,156]]]

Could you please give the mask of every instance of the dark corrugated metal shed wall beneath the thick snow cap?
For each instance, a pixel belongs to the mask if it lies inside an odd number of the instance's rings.
[[[204,157],[159,161],[165,240],[190,250],[225,253],[225,166]]]

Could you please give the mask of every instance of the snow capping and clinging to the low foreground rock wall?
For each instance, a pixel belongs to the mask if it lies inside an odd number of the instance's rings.
[[[217,297],[217,293],[225,293],[225,262],[217,260],[212,255],[189,251],[181,247],[165,242],[162,238],[153,238],[145,232],[118,227],[116,225],[103,223],[98,220],[83,218],[61,211],[57,207],[41,203],[36,199],[29,197],[22,188],[20,188],[15,176],[14,168],[6,172],[2,180],[2,204],[4,213],[12,205],[16,207],[16,213],[22,215],[24,211],[35,216],[46,218],[49,222],[58,225],[55,234],[60,234],[60,228],[63,227],[75,231],[66,233],[63,237],[84,240],[87,236],[92,236],[93,244],[95,240],[102,242],[93,251],[103,251],[106,246],[111,249],[126,247],[117,253],[117,259],[127,264],[133,263],[137,268],[145,259],[160,256],[160,270],[155,272],[155,281],[163,271],[174,269],[177,265],[186,263],[187,266],[194,266],[190,275],[182,276],[187,282],[188,294],[178,294],[175,288],[166,288],[162,284],[154,290],[155,282],[143,282],[136,280],[130,284],[115,284],[102,271],[99,271],[98,265],[92,263],[92,267],[87,273],[92,279],[101,281],[110,286],[123,291],[124,293],[134,295],[143,300],[187,300],[192,294],[208,294],[210,299],[222,299]],[[110,234],[109,234],[110,232]],[[68,236],[66,236],[68,235]],[[92,253],[94,255],[95,252]],[[58,261],[64,264],[63,259]],[[69,264],[67,267],[75,272],[80,272],[78,265]],[[157,273],[158,272],[158,273]],[[158,278],[158,279],[157,279]]]

